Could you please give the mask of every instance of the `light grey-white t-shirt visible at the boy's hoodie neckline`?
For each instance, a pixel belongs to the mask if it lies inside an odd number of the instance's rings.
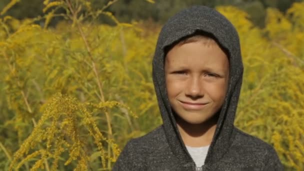
[[[186,148],[189,154],[191,155],[192,159],[194,160],[196,167],[201,167],[204,164],[209,146],[210,145],[191,147],[186,145]]]

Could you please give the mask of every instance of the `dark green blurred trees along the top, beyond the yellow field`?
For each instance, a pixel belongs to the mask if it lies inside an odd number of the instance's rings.
[[[1,0],[0,9],[3,8],[10,0]],[[54,1],[54,0],[50,0]],[[101,8],[108,0],[89,0],[93,8]],[[157,23],[164,23],[169,16],[173,15],[182,8],[201,4],[210,7],[219,5],[233,5],[246,11],[250,15],[250,20],[257,26],[264,26],[264,18],[268,7],[277,8],[285,12],[293,2],[303,0],[154,0],[155,3],[149,3],[146,0],[118,0],[108,8],[114,16],[123,22],[132,20],[151,20]],[[19,0],[17,4],[5,15],[13,16],[17,19],[27,17],[36,17],[43,15],[43,4],[41,0]],[[28,10],[30,9],[30,10]],[[144,9],[144,10],[142,10]],[[61,11],[62,12],[62,11]],[[62,18],[56,18],[52,24],[55,24]],[[99,18],[100,22],[111,22],[110,20]],[[42,21],[43,22],[43,21]]]

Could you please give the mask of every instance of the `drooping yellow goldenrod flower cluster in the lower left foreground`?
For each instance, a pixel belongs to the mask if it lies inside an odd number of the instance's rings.
[[[83,124],[79,125],[80,122]],[[79,132],[85,129],[89,132],[88,135],[94,139],[103,167],[106,167],[106,159],[114,162],[120,149],[113,139],[106,139],[103,136],[90,111],[87,110],[87,106],[70,96],[55,94],[47,103],[47,107],[30,136],[15,152],[10,163],[10,170],[20,168],[26,161],[38,155],[41,156],[41,159],[35,161],[32,169],[44,167],[44,161],[50,158],[53,158],[52,168],[57,169],[59,158],[65,151],[68,152],[69,157],[65,160],[64,165],[77,160],[76,170],[87,168],[89,155],[85,150],[85,145],[87,145],[85,140],[88,137],[81,138]],[[105,153],[102,141],[107,142],[113,149],[114,156]],[[39,144],[45,144],[45,146]],[[27,154],[31,150],[33,152]],[[19,161],[19,159],[22,160]],[[16,166],[14,166],[15,164]]]

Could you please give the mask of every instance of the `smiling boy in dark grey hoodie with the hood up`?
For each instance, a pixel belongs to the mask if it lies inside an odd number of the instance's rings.
[[[242,82],[238,34],[193,6],[161,29],[153,82],[163,124],[131,139],[113,170],[282,170],[275,150],[233,125]]]

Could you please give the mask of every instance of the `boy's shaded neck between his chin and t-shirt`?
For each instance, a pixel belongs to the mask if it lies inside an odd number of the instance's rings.
[[[176,118],[177,128],[183,143],[191,147],[210,145],[217,119],[211,118],[208,121],[200,124],[191,124],[180,118]]]

